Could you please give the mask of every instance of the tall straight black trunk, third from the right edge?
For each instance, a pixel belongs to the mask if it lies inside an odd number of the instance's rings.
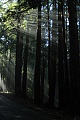
[[[63,64],[63,26],[62,26],[62,0],[58,4],[58,85],[59,85],[59,107],[63,108],[64,101],[64,64]]]

